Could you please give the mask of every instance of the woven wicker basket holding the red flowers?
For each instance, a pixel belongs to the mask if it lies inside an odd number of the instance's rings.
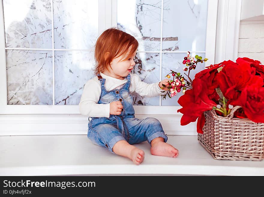
[[[233,118],[235,106],[227,117],[214,110],[204,112],[203,134],[198,141],[217,160],[261,161],[264,158],[264,123]]]

